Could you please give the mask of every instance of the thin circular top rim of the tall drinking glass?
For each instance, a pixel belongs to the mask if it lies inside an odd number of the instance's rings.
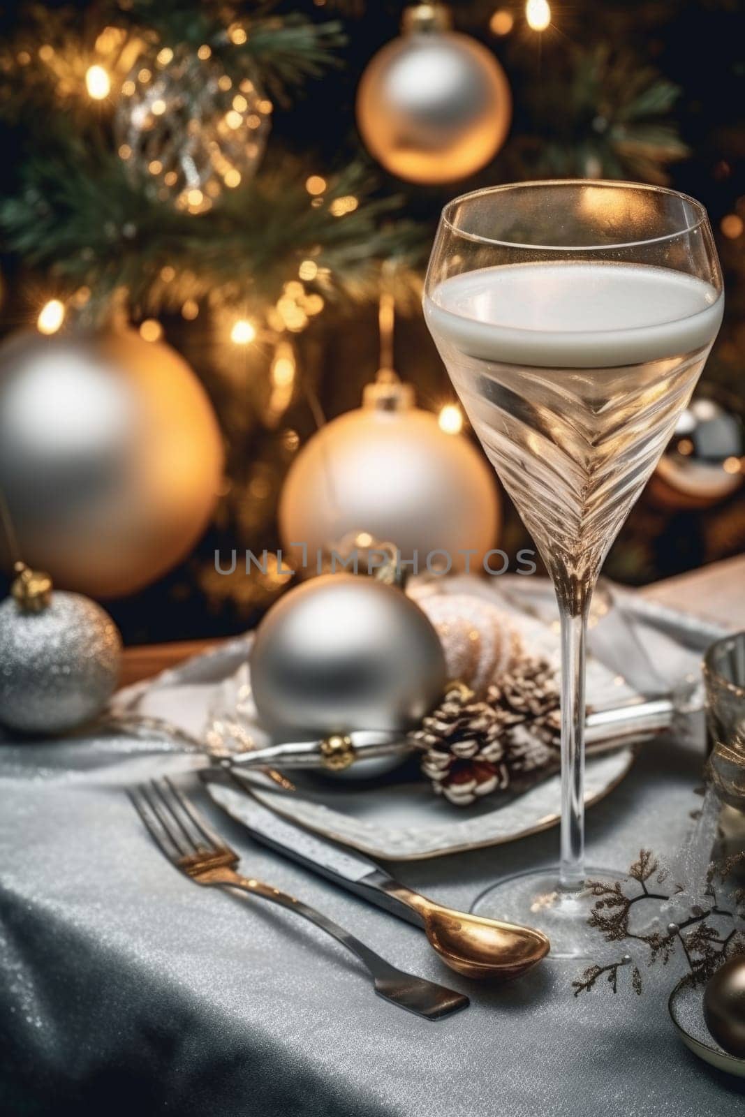
[[[526,245],[516,240],[502,240],[498,237],[484,237],[480,233],[468,232],[465,229],[460,229],[450,219],[450,212],[462,202],[474,201],[487,194],[498,194],[509,190],[526,190],[536,187],[599,187],[604,190],[637,190],[644,193],[668,194],[670,198],[678,198],[688,202],[697,213],[697,220],[693,225],[687,225],[675,232],[667,232],[659,237],[640,237],[636,240],[619,240],[605,245]],[[442,207],[440,221],[453,236],[462,237],[465,240],[472,240],[481,245],[494,245],[500,248],[519,248],[534,252],[602,252],[615,251],[619,248],[638,248],[642,245],[656,245],[666,240],[675,240],[677,237],[685,237],[687,233],[700,229],[701,226],[708,225],[708,214],[705,206],[695,198],[691,198],[690,194],[685,194],[680,190],[672,190],[670,187],[658,187],[655,183],[631,182],[623,179],[531,179],[527,182],[503,182],[495,187],[483,187],[480,190],[471,190],[465,194],[458,194],[457,198],[451,198]]]

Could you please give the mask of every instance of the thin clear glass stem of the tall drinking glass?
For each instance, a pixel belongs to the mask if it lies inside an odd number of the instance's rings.
[[[584,880],[584,645],[588,601],[579,613],[561,608],[562,622],[562,840],[560,886]]]

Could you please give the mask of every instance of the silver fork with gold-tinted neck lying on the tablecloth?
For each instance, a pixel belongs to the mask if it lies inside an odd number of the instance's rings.
[[[468,997],[462,993],[397,970],[344,927],[302,900],[265,885],[255,877],[241,876],[237,871],[238,853],[214,832],[194,804],[168,776],[141,784],[128,794],[140,818],[169,861],[198,885],[239,888],[309,919],[357,956],[373,977],[379,996],[408,1009],[409,1012],[416,1012],[427,1020],[439,1020],[468,1006]]]

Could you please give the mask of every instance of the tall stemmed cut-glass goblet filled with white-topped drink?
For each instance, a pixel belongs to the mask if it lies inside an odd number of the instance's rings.
[[[633,182],[520,182],[442,211],[424,314],[474,430],[538,547],[562,628],[560,863],[480,915],[586,956],[584,656],[603,558],[687,405],[722,322],[706,211]]]

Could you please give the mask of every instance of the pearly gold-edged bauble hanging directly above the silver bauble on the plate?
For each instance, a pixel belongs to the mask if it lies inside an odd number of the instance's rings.
[[[365,405],[334,419],[295,458],[279,498],[285,551],[302,565],[353,532],[418,555],[419,572],[478,571],[497,546],[499,504],[494,472],[462,435],[443,432],[437,416],[370,385]],[[390,403],[390,405],[389,405]],[[293,546],[293,544],[295,544]],[[470,556],[465,554],[471,551]],[[409,573],[416,573],[411,566]]]

